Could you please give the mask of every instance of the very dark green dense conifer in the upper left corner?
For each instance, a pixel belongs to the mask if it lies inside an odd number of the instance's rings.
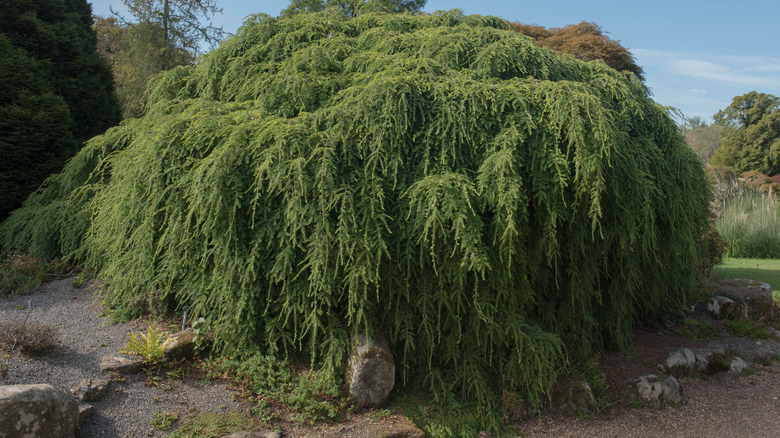
[[[86,0],[0,3],[0,220],[120,119]]]

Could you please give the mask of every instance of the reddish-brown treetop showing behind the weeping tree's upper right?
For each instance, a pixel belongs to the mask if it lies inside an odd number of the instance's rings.
[[[565,53],[583,61],[600,59],[617,71],[628,71],[644,80],[644,71],[637,65],[634,55],[606,36],[599,25],[583,21],[561,28],[546,29],[535,24],[512,23],[515,30],[535,39],[536,42],[558,53]]]

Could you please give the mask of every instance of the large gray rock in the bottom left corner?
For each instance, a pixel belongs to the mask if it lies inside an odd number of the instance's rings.
[[[0,436],[72,438],[79,427],[76,400],[51,385],[0,386]]]

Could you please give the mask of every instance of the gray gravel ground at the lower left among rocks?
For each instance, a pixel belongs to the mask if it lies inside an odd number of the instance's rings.
[[[30,295],[0,299],[0,321],[24,319],[29,300],[32,312],[28,321],[59,327],[56,345],[44,354],[27,357],[15,352],[8,363],[7,376],[0,377],[0,385],[48,383],[68,391],[82,379],[108,378],[100,371],[100,358],[114,355],[124,347],[136,324],[114,324],[100,316],[101,298],[96,288],[74,289],[72,281],[54,281]],[[155,412],[172,412],[184,418],[194,412],[239,409],[224,385],[203,383],[164,379],[156,387],[147,386],[143,374],[113,381],[108,395],[91,403],[95,414],[82,425],[80,436],[164,436],[168,432],[151,425]]]

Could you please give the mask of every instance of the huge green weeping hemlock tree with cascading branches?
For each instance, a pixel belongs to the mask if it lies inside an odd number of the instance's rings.
[[[684,303],[706,187],[638,80],[497,18],[258,15],[2,242],[96,269],[120,312],[189,305],[227,353],[338,375],[382,330],[403,382],[490,405]]]

